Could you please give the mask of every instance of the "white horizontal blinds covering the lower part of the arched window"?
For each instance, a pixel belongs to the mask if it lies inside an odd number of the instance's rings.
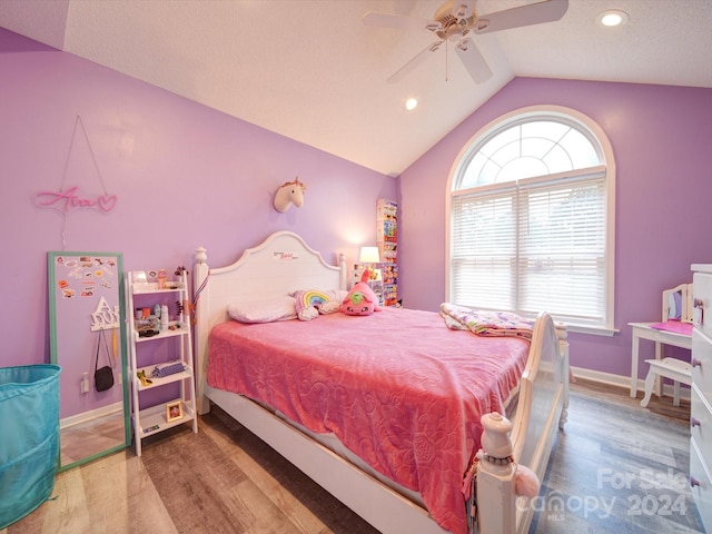
[[[605,169],[454,192],[451,299],[602,325],[605,214]]]

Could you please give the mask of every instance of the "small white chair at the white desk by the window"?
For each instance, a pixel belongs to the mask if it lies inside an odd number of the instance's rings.
[[[663,323],[671,322],[674,325],[692,324],[692,284],[681,284],[672,289],[663,291]],[[686,335],[684,335],[686,337]],[[686,339],[678,346],[686,347]],[[656,355],[657,356],[657,355]],[[647,406],[653,394],[653,387],[660,378],[673,380],[673,406],[680,406],[680,384],[690,385],[692,382],[692,366],[688,362],[678,358],[646,359],[650,366],[645,377],[645,395],[641,406]]]

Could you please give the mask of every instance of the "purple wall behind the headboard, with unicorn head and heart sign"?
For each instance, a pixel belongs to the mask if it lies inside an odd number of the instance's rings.
[[[293,230],[352,263],[375,245],[377,198],[396,195],[393,178],[1,28],[0,80],[2,366],[49,362],[49,250],[119,251],[126,270],[172,273],[198,246],[220,266]],[[100,178],[80,128],[69,150],[78,115]],[[295,176],[305,205],[279,214],[273,195]],[[108,214],[65,218],[32,201],[62,184],[96,198],[101,181],[118,197]]]

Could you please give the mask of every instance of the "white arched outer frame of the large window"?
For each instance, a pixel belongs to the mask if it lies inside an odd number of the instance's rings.
[[[613,149],[607,136],[603,129],[586,115],[571,108],[561,106],[531,106],[526,108],[516,109],[502,117],[496,118],[486,126],[479,129],[469,140],[465,144],[459,151],[455,161],[451,168],[447,188],[446,188],[446,240],[445,240],[445,255],[446,255],[446,269],[445,269],[445,289],[447,300],[453,299],[452,287],[452,239],[453,239],[453,220],[452,220],[452,204],[454,186],[458,184],[462,174],[467,168],[471,159],[474,157],[481,146],[486,140],[496,136],[497,134],[511,128],[512,126],[522,122],[523,120],[547,120],[553,119],[556,121],[565,122],[578,131],[584,134],[592,140],[594,147],[600,150],[600,159],[603,162],[605,169],[606,179],[606,220],[605,220],[605,240],[606,240],[606,266],[605,266],[605,317],[604,324],[591,326],[591,325],[576,325],[574,323],[567,324],[571,332],[583,332],[589,334],[599,334],[612,336],[616,330],[614,327],[614,288],[615,288],[615,159],[613,157]],[[597,146],[596,146],[597,145]],[[488,186],[483,186],[488,187]],[[491,186],[490,186],[491,187]]]

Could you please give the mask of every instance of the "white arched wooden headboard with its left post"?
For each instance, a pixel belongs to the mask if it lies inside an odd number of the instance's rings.
[[[204,398],[208,336],[215,325],[227,320],[230,304],[287,295],[298,289],[346,289],[346,285],[343,254],[339,254],[338,265],[329,265],[291,231],[270,235],[226,267],[209,267],[206,250],[198,248],[194,288],[197,297],[195,365],[199,412],[208,409]]]

